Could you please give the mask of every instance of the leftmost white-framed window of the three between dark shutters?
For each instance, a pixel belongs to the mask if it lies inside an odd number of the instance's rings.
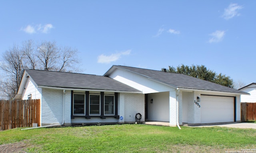
[[[84,115],[84,101],[85,101],[84,94],[74,93],[74,106],[73,106],[74,115]]]

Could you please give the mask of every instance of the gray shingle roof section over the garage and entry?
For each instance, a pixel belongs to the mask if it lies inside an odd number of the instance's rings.
[[[134,68],[134,67],[128,67],[128,66],[113,66],[113,67],[125,69],[130,72],[140,74],[142,76],[150,77],[157,81],[160,81],[178,88],[248,94],[240,90],[236,90],[230,87],[226,87],[223,85],[212,83],[210,81],[198,79],[195,77],[186,76],[184,74],[176,74],[176,73],[162,72],[157,70],[148,70],[148,69],[142,69],[142,68]]]

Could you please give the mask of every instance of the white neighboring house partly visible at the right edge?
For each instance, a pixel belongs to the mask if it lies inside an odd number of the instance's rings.
[[[256,103],[256,83],[251,83],[238,90],[250,93],[250,95],[241,95],[241,103]]]

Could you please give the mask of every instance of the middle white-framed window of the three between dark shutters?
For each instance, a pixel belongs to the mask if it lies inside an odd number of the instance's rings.
[[[90,115],[100,115],[100,95],[90,94]]]

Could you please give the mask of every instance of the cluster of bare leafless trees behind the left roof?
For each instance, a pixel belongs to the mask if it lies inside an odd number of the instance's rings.
[[[18,91],[24,69],[46,71],[78,72],[77,50],[70,47],[58,47],[56,42],[43,41],[34,45],[32,40],[14,45],[2,54],[0,69],[4,77],[0,78],[0,96],[13,98]]]

